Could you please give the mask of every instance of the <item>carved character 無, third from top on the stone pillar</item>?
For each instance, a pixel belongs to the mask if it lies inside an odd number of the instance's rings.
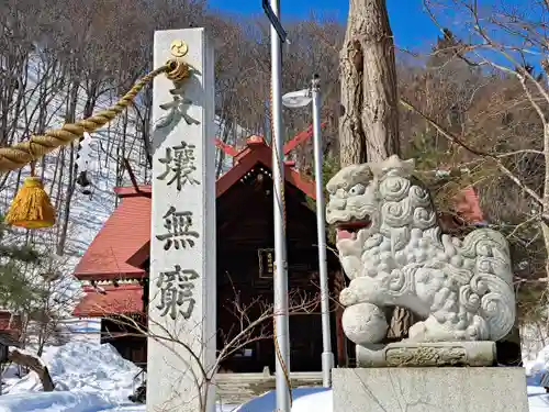
[[[194,246],[199,233],[192,230],[192,212],[178,212],[175,207],[169,207],[163,219],[166,233],[156,235],[156,238],[164,242],[165,250]]]

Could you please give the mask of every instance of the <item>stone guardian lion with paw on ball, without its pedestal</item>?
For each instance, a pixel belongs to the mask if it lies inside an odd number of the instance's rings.
[[[506,240],[488,229],[463,241],[442,234],[414,167],[392,156],[348,166],[327,183],[327,222],[350,279],[339,298],[346,335],[366,347],[381,343],[386,314],[403,307],[421,320],[408,342],[503,338],[515,321]]]

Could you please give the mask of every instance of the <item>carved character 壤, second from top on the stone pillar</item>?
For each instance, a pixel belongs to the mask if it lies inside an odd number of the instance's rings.
[[[166,156],[158,159],[165,166],[165,170],[157,176],[157,179],[167,180],[168,186],[176,182],[177,190],[181,190],[187,183],[200,185],[200,181],[194,178],[195,148],[195,145],[186,142],[173,147],[166,147]]]

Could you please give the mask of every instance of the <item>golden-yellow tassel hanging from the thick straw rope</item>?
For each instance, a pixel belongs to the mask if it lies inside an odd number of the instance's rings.
[[[40,178],[25,178],[4,222],[25,229],[51,227],[55,224],[55,209]]]

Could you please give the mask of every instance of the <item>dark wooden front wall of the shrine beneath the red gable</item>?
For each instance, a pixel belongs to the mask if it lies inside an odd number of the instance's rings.
[[[267,174],[261,174],[258,178],[258,169],[217,200],[217,324],[222,332],[217,339],[219,348],[224,345],[221,335],[232,335],[232,329],[234,335],[234,329],[238,329],[238,319],[234,314],[235,299],[243,305],[257,300],[271,304],[273,299],[272,270],[267,270],[269,250],[273,258],[272,180]],[[305,196],[301,191],[289,185],[285,190],[290,296],[299,293],[305,297],[311,307],[315,307],[310,308],[309,314],[290,315],[291,369],[321,370],[323,348],[316,216],[307,208]],[[260,255],[264,256],[262,265]],[[338,269],[337,258],[328,253],[328,270],[334,274]],[[330,289],[334,290],[334,285],[330,283]],[[249,312],[250,319],[259,318],[261,305],[256,304]],[[333,347],[336,352],[336,319],[334,314],[332,318]],[[271,334],[272,324],[267,326]],[[260,333],[259,329],[257,333]],[[273,370],[272,338],[261,339],[246,347],[251,350],[251,356],[236,357],[224,363],[224,366],[235,372],[260,372],[264,366]]]

